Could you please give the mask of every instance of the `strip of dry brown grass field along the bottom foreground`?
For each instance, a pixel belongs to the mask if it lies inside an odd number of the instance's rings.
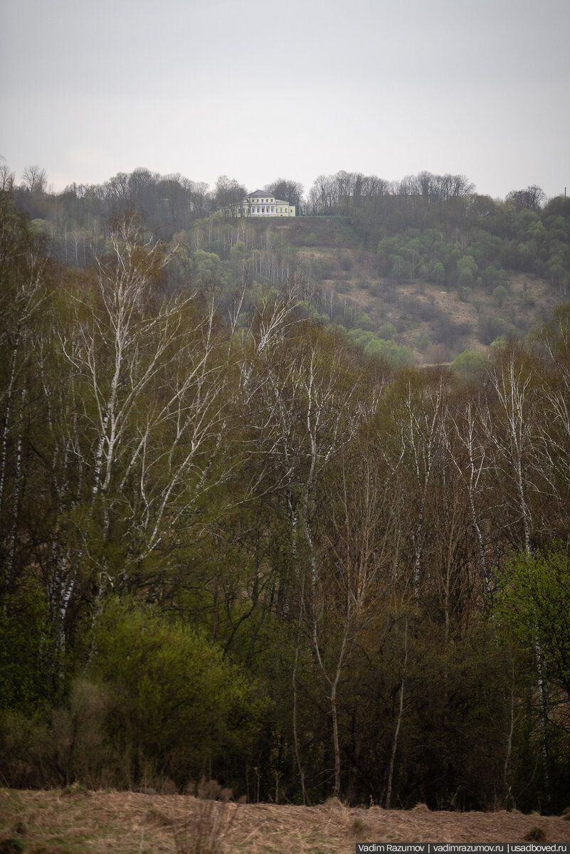
[[[345,854],[355,842],[570,841],[570,816],[234,804],[180,795],[0,789],[0,852]],[[538,828],[538,829],[537,829]]]

